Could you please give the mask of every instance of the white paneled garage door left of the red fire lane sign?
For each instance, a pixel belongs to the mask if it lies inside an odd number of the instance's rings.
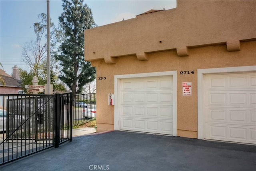
[[[121,80],[121,129],[173,134],[172,76]]]

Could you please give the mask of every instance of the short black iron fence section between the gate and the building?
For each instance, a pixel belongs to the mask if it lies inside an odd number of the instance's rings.
[[[73,125],[96,119],[96,93],[73,95]]]

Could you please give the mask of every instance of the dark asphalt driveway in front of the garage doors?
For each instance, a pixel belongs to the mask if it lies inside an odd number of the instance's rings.
[[[73,137],[1,171],[253,171],[256,146],[125,131]]]

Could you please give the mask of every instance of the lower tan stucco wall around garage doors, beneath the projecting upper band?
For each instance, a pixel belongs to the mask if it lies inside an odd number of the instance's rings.
[[[256,65],[256,41],[241,43],[241,51],[228,52],[225,45],[190,49],[190,55],[179,57],[175,50],[149,54],[149,60],[139,61],[136,56],[117,58],[117,64],[93,61],[97,68],[97,131],[114,129],[114,106],[108,105],[108,93],[114,93],[114,75],[148,72],[177,71],[177,129],[178,136],[197,137],[197,69]],[[180,75],[180,71],[195,74]],[[192,96],[182,96],[182,82],[192,82]],[[107,125],[105,125],[107,124]],[[110,125],[108,125],[110,124]]]

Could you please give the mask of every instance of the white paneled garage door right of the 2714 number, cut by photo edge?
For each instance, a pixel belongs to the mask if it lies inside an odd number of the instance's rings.
[[[256,143],[256,73],[204,77],[204,137]]]

